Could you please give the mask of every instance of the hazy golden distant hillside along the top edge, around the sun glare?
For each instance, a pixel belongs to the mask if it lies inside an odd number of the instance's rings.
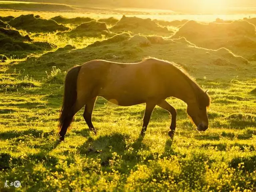
[[[25,2],[44,2],[44,3],[60,3],[80,7],[94,8],[147,8],[147,9],[165,9],[178,12],[207,12],[205,5],[209,5],[204,0],[22,0]],[[1,2],[1,1],[0,1]],[[217,2],[217,3],[216,3]],[[210,2],[210,5],[218,5],[220,1]],[[222,3],[222,2],[220,2]],[[229,13],[246,12],[255,13],[255,0],[225,0],[226,7]],[[209,8],[210,6],[208,6]],[[210,7],[214,9],[214,7]],[[241,9],[240,9],[241,8]],[[246,8],[246,9],[245,9]],[[218,10],[223,11],[224,8],[218,7]],[[210,11],[210,10],[208,10]],[[226,10],[225,10],[226,11]]]

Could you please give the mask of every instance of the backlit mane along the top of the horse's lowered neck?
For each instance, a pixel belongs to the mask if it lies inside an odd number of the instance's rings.
[[[154,58],[155,60],[159,60]],[[186,72],[186,70],[174,63],[174,62],[169,62],[166,60],[159,60],[162,62],[166,62],[170,65],[172,65],[174,67],[174,70],[180,72],[180,74],[182,74],[182,76],[184,77],[184,79],[186,80],[186,82],[188,82],[188,84],[190,84],[194,90],[194,93],[197,95],[198,98],[198,104],[201,104],[202,106],[210,106],[210,97],[208,96],[208,94],[206,94],[206,92],[204,92],[204,90],[202,90],[202,88],[200,88],[200,86],[195,82],[195,80],[188,74],[188,72]]]

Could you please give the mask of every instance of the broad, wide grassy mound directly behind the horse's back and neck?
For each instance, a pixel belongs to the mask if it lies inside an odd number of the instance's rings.
[[[131,36],[129,33],[117,34],[106,40],[96,41],[82,49],[65,50],[62,48],[61,50],[49,52],[38,58],[36,67],[40,68],[45,60],[54,62],[56,65],[65,62],[66,65],[60,66],[60,69],[64,71],[76,64],[82,64],[93,59],[134,62],[151,56],[176,62],[188,72],[203,78],[204,76],[216,76],[216,74],[219,77],[226,76],[223,73],[225,70],[242,69],[248,66],[244,65],[248,62],[246,59],[235,56],[226,48],[208,50],[194,46],[186,38],[166,39],[160,36]],[[28,63],[29,61],[24,62],[24,65],[29,66]],[[33,61],[33,68],[34,63]],[[21,63],[19,68],[23,67]],[[17,65],[16,68],[18,70]],[[26,69],[28,70],[28,67]],[[236,72],[234,72],[235,74]]]

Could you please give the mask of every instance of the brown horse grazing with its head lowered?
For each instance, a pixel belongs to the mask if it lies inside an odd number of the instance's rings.
[[[83,107],[84,120],[90,131],[97,134],[92,124],[92,111],[97,96],[120,105],[132,106],[146,103],[141,136],[144,136],[155,106],[172,116],[169,136],[176,128],[176,110],[166,98],[175,97],[188,105],[187,112],[197,130],[208,129],[206,107],[210,98],[180,66],[154,58],[139,63],[116,63],[92,60],[72,68],[66,75],[64,101],[59,118],[60,140]]]

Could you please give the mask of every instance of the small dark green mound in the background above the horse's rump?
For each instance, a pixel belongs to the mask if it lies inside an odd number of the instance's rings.
[[[70,32],[64,32],[61,34],[67,34],[71,38],[75,37],[101,37],[102,35],[110,36],[111,32],[106,27],[105,23],[90,21],[85,22],[77,26]]]

